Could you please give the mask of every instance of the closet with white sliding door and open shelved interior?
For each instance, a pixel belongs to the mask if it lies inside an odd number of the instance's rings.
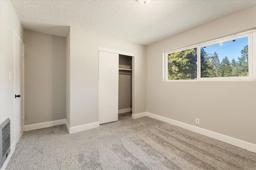
[[[118,121],[132,109],[132,57],[99,51],[99,122]]]

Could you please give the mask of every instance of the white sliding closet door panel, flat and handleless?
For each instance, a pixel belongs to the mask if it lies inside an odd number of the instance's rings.
[[[118,121],[119,55],[99,51],[99,122]]]

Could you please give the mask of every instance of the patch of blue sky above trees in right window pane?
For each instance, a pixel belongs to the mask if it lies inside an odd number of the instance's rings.
[[[209,45],[204,48],[206,53],[214,54],[214,52],[218,53],[218,57],[220,59],[220,62],[224,57],[228,57],[228,60],[231,62],[231,60],[234,58],[236,61],[238,61],[238,57],[241,57],[241,50],[244,49],[244,47],[248,45],[248,37],[236,39],[236,41],[226,41],[224,43],[218,43],[214,45]]]

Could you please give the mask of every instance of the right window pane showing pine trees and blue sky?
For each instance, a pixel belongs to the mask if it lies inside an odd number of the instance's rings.
[[[201,77],[248,76],[248,37],[202,47]]]

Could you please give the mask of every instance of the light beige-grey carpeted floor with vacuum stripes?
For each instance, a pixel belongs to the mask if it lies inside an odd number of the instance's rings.
[[[68,134],[65,125],[26,131],[6,170],[255,170],[256,154],[152,119]]]

